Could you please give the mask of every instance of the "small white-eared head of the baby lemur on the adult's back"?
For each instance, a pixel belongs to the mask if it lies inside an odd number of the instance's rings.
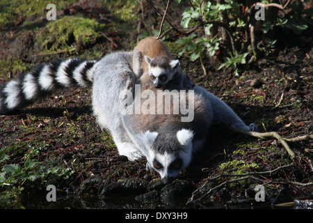
[[[172,60],[168,56],[145,56],[145,61],[148,64],[150,79],[157,89],[168,84],[180,66],[178,60]]]

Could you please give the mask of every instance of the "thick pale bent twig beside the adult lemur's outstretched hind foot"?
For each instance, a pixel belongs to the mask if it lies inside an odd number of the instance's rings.
[[[280,134],[278,134],[277,132],[251,132],[248,130],[243,130],[243,129],[239,129],[239,128],[235,128],[233,130],[234,132],[239,132],[242,134],[246,134],[246,135],[250,135],[252,137],[257,137],[259,139],[264,139],[266,137],[271,137],[271,138],[275,138],[278,141],[280,141],[280,143],[282,144],[282,146],[284,146],[284,148],[286,149],[287,153],[289,154],[289,156],[291,157],[291,160],[294,160],[294,158],[296,157],[296,155],[294,154],[293,151],[291,151],[291,148],[289,147],[289,145],[287,144],[287,142],[282,139],[282,137],[280,136]]]

